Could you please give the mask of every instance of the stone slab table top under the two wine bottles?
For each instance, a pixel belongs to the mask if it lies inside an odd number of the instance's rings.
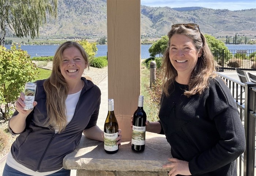
[[[133,152],[131,142],[121,142],[115,154],[107,154],[104,144],[84,135],[79,146],[64,157],[63,167],[76,170],[100,171],[169,171],[162,168],[172,157],[165,135],[146,132],[146,146],[142,153]]]

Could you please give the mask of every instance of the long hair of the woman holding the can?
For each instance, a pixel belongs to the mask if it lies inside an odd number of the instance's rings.
[[[59,46],[53,58],[52,73],[44,82],[46,109],[48,115],[45,125],[59,126],[59,133],[65,129],[67,124],[65,100],[68,96],[68,84],[60,72],[60,65],[62,63],[63,51],[70,47],[76,47],[81,52],[89,69],[88,56],[80,44],[67,41]]]

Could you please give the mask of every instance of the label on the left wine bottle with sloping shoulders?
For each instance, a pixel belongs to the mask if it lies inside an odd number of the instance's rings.
[[[118,150],[118,145],[116,144],[118,137],[118,133],[105,133],[104,132],[104,149],[107,151],[115,151]]]

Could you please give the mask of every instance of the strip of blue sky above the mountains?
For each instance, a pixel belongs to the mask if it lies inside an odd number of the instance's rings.
[[[231,11],[256,8],[256,0],[141,0],[150,7],[206,7]]]

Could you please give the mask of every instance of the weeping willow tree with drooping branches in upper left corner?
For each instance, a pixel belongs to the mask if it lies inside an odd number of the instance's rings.
[[[39,27],[49,17],[57,18],[57,0],[1,0],[0,1],[0,45],[4,46],[6,27],[17,37],[39,36]],[[47,15],[49,14],[49,15]]]

